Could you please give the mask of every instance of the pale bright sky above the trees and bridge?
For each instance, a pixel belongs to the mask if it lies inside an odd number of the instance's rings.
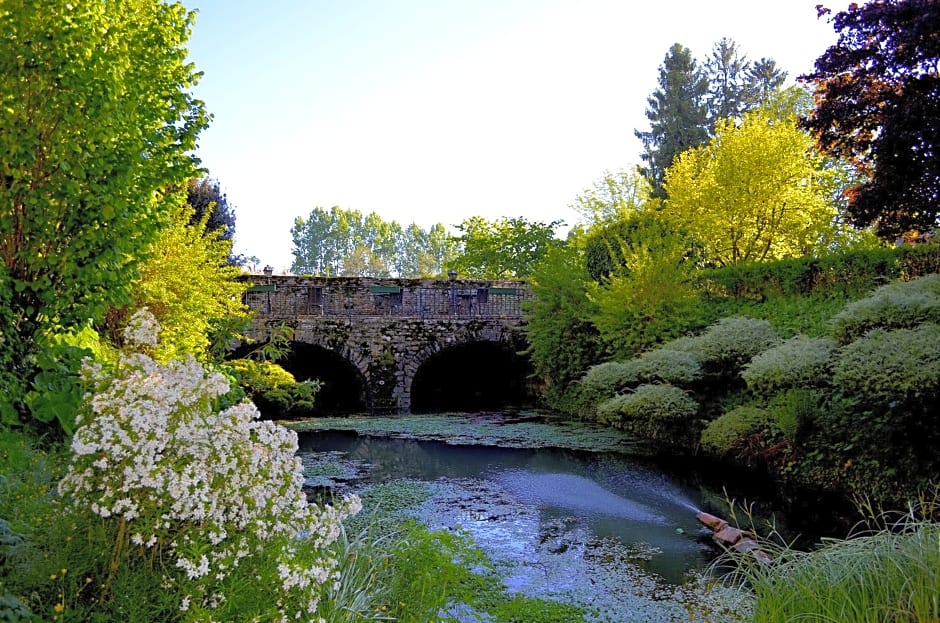
[[[315,207],[570,226],[579,194],[641,162],[672,44],[702,62],[727,37],[793,83],[836,40],[820,1],[184,0],[213,115],[197,155],[235,251],[278,273]]]

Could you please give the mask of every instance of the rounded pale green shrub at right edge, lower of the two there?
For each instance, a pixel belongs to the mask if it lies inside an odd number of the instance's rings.
[[[833,386],[869,405],[922,403],[940,390],[940,326],[875,329],[840,349]]]

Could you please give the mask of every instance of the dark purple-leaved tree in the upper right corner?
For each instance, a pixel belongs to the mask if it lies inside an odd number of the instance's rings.
[[[940,216],[940,2],[852,3],[832,23],[838,42],[800,77],[813,83],[817,101],[804,127],[820,150],[864,175],[849,193],[855,225],[874,225],[883,239],[933,229]]]

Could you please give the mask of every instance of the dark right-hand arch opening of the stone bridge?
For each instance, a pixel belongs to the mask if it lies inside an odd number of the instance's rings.
[[[493,411],[530,407],[531,363],[511,346],[469,342],[431,355],[411,384],[411,411]]]

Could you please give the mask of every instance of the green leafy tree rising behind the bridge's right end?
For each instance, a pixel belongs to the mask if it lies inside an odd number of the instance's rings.
[[[460,251],[453,268],[468,279],[525,279],[559,243],[555,228],[561,224],[530,223],[521,217],[487,221],[472,216],[457,226]]]

